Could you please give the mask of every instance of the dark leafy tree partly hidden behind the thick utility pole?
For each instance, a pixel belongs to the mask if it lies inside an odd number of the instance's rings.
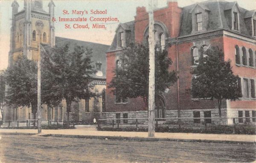
[[[168,52],[155,51],[155,92],[160,94],[177,80],[176,71],[169,71],[172,65]],[[122,52],[116,63],[115,76],[109,84],[116,97],[122,99],[142,97],[148,107],[149,49],[133,44]]]

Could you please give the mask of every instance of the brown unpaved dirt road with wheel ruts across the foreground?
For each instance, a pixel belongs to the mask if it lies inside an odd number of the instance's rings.
[[[0,137],[0,163],[247,163],[256,160],[256,145]]]

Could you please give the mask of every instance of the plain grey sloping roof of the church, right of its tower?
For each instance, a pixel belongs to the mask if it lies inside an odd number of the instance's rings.
[[[101,70],[102,70],[102,76],[96,76],[96,74],[93,74],[93,78],[101,78],[106,79],[106,51],[108,51],[109,46],[103,45],[99,43],[92,43],[87,41],[80,41],[80,40],[73,40],[69,38],[63,38],[63,37],[55,37],[55,44],[56,45],[65,45],[68,44],[70,49],[73,49],[76,45],[78,46],[84,46],[84,48],[89,48],[93,50],[93,54],[91,57],[92,64],[95,66],[97,61],[100,61],[102,63]]]

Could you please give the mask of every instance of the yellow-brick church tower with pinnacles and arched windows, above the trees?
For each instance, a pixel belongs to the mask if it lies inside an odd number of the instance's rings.
[[[12,27],[9,52],[9,66],[20,55],[38,60],[38,44],[55,45],[54,3],[49,2],[49,12],[44,11],[42,0],[24,0],[24,9],[18,11],[19,4],[12,3]]]

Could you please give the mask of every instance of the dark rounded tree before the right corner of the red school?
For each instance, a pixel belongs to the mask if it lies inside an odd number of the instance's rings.
[[[221,117],[223,99],[237,100],[241,97],[238,75],[233,75],[230,60],[224,61],[224,53],[217,46],[208,49],[204,57],[198,60],[192,78],[192,96],[211,98],[218,101],[218,112]]]

